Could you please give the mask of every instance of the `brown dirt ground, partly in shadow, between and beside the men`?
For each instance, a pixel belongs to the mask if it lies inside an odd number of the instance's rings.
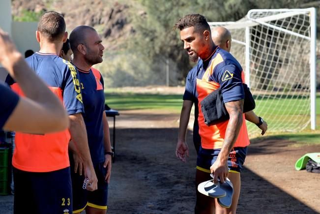
[[[178,119],[178,114],[159,110],[120,112],[108,213],[193,213],[196,153],[189,131],[187,163],[175,157]],[[237,213],[320,213],[320,174],[294,169],[300,156],[319,152],[320,145],[292,144],[276,138],[252,142]]]

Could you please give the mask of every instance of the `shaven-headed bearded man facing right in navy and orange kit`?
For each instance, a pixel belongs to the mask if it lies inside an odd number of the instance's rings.
[[[82,187],[82,163],[79,161],[74,142],[69,149],[73,214],[86,210],[87,214],[106,214],[108,204],[108,183],[111,176],[112,150],[109,124],[105,114],[104,81],[100,71],[92,66],[103,61],[104,46],[97,31],[89,26],[79,26],[70,34],[70,46],[73,52],[72,64],[79,71],[79,79],[84,101],[84,121],[87,128],[89,150],[98,189],[89,192]],[[79,173],[77,173],[79,171]]]

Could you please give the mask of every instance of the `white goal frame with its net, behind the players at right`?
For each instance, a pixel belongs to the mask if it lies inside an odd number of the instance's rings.
[[[212,22],[232,34],[231,53],[272,132],[316,127],[316,9],[254,9],[236,22]],[[247,122],[250,135],[259,133]]]

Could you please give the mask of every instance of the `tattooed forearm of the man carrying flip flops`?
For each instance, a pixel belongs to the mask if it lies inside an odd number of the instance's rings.
[[[230,153],[233,148],[233,144],[236,141],[242,122],[243,122],[243,99],[225,103],[226,109],[230,115],[228,122],[223,150],[227,150]]]

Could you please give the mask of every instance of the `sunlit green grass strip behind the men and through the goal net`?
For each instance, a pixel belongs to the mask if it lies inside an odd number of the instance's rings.
[[[307,100],[302,98],[279,98],[277,104],[270,103],[268,100],[256,98],[257,115],[262,115],[269,125],[276,127],[279,123],[282,125],[300,124],[306,120],[303,113],[304,102]],[[134,92],[107,92],[106,103],[116,110],[134,110],[134,109],[162,109],[173,113],[179,113],[182,106],[182,95],[163,95],[163,94],[141,94]],[[276,132],[268,133],[266,138],[288,139],[296,141],[297,146],[306,144],[320,144],[320,95],[317,96],[317,128],[310,129],[310,124],[300,132]],[[263,106],[264,111],[259,111],[259,107]],[[278,120],[279,115],[282,116],[281,121]],[[248,125],[249,131],[256,129],[255,125]],[[258,132],[257,132],[258,133]]]

